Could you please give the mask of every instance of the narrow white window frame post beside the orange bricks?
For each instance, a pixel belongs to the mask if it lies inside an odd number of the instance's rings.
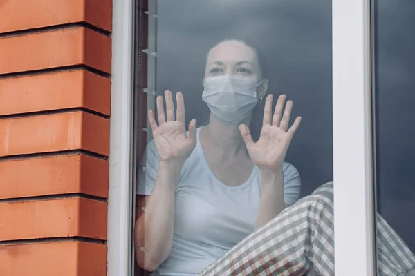
[[[113,0],[107,275],[133,271],[133,0]]]

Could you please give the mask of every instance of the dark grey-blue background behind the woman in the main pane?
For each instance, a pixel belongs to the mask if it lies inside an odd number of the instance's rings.
[[[268,92],[294,101],[302,125],[288,150],[302,195],[333,180],[331,1],[158,0],[157,94],[181,91],[186,119],[208,122],[202,80],[208,50],[227,39],[254,41],[264,57]],[[255,109],[252,135],[264,104]]]

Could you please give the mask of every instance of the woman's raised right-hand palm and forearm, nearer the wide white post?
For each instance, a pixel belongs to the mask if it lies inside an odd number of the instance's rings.
[[[301,121],[301,117],[297,117],[293,126],[288,128],[293,101],[286,103],[283,115],[285,100],[286,95],[279,96],[273,115],[273,95],[266,97],[264,120],[257,142],[252,140],[248,126],[239,126],[249,156],[258,166],[261,176],[261,201],[255,229],[260,228],[285,208],[282,166],[288,146]]]

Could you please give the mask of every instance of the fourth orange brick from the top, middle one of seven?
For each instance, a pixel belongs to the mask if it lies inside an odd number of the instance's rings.
[[[0,157],[88,150],[109,154],[109,120],[87,112],[0,119]]]

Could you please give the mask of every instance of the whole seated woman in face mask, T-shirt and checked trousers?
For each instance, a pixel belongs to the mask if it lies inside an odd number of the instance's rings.
[[[138,204],[145,206],[135,230],[139,266],[154,275],[196,275],[205,268],[204,275],[257,275],[284,273],[277,264],[285,260],[279,266],[288,274],[306,272],[315,262],[318,273],[331,275],[333,257],[326,266],[327,258],[310,258],[319,248],[313,245],[323,240],[328,254],[333,249],[333,231],[326,233],[332,224],[331,187],[284,210],[299,199],[300,187],[297,170],[284,162],[301,121],[297,117],[288,128],[292,101],[283,113],[286,96],[280,96],[273,112],[268,95],[261,135],[252,141],[252,110],[265,97],[268,81],[258,52],[243,41],[223,41],[210,50],[203,84],[202,98],[211,111],[207,126],[196,128],[193,119],[185,132],[180,92],[176,119],[169,91],[166,114],[163,97],[157,98],[158,126],[149,110],[154,140],[138,184]],[[288,227],[293,224],[295,230]],[[275,248],[278,237],[288,236]],[[313,250],[308,254],[306,248]]]

